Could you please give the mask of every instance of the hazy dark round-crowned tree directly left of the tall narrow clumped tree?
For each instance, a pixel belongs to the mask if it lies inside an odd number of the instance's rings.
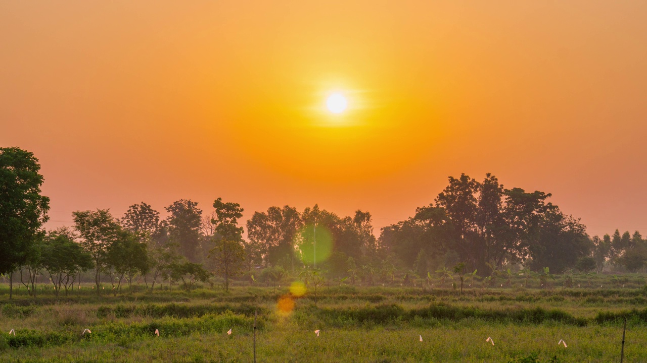
[[[197,262],[197,249],[200,244],[202,210],[197,202],[181,199],[166,207],[171,213],[167,218],[169,238],[179,245],[180,254],[190,262]]]

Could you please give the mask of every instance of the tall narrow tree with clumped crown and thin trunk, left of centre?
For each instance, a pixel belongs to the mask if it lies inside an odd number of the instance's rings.
[[[245,250],[243,249],[243,227],[238,227],[238,218],[243,216],[243,209],[238,203],[223,202],[218,198],[214,202],[216,218],[212,220],[220,239],[209,251],[214,259],[215,271],[225,278],[225,290],[229,291],[229,279],[243,271]]]

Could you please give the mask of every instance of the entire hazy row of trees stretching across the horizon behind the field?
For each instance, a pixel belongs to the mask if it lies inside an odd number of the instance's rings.
[[[190,291],[212,276],[228,289],[232,279],[267,284],[299,275],[371,285],[452,268],[492,276],[510,268],[635,272],[647,264],[647,241],[637,231],[590,238],[580,220],[549,202],[551,194],[506,189],[492,174],[482,182],[449,177],[432,203],[382,228],[378,238],[370,213],[338,216],[318,205],[256,212],[243,238],[243,208],[221,198],[207,213],[178,200],[164,219],[144,202],[120,217],[107,209],[76,211],[72,227],[45,231],[49,198],[41,195],[39,168],[31,152],[0,148],[0,273],[9,277],[10,294],[17,277],[35,296],[43,275],[57,296],[67,294],[84,273],[96,293],[106,282],[116,295],[126,286],[132,291],[135,281],[151,291],[162,280]]]

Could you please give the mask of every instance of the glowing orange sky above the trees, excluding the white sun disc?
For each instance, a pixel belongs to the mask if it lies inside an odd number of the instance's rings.
[[[3,1],[0,146],[41,161],[52,227],[221,196],[246,217],[363,209],[378,233],[492,172],[591,234],[647,234],[645,19],[644,1]]]

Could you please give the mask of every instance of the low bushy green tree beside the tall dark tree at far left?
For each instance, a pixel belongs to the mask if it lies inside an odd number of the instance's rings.
[[[66,227],[50,231],[45,238],[41,258],[43,268],[54,284],[56,297],[65,289],[65,295],[74,285],[76,275],[93,267],[92,257],[74,242],[74,232]]]

